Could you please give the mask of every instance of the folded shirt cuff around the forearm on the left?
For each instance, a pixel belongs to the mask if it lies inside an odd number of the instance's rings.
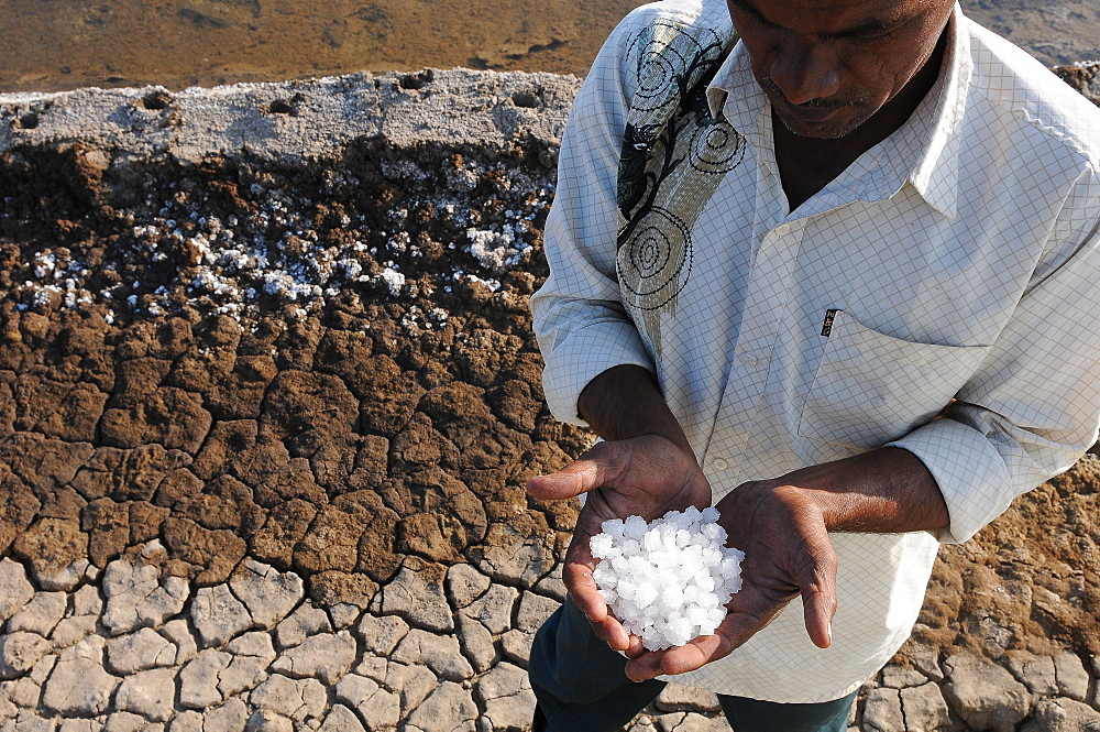
[[[588,383],[617,365],[640,365],[656,374],[638,331],[629,323],[604,321],[570,334],[553,349],[543,349],[542,389],[551,414],[561,422],[587,427],[578,400]]]

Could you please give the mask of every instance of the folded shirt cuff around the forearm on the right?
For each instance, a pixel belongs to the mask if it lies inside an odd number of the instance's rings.
[[[936,479],[950,524],[938,538],[961,544],[1012,503],[1004,459],[986,436],[954,419],[934,419],[884,447],[909,450]]]

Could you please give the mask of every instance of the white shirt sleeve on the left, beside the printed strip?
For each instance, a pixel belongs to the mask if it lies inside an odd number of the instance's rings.
[[[620,364],[654,370],[619,302],[615,274],[617,171],[628,107],[628,62],[618,45],[628,30],[626,22],[608,39],[573,103],[544,231],[550,276],[531,297],[547,403],[557,418],[579,425],[585,422],[578,397],[600,373]]]

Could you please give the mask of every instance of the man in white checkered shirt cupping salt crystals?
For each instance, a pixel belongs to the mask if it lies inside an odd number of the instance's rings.
[[[670,0],[616,29],[531,301],[548,403],[606,440],[529,483],[586,494],[536,729],[618,729],[662,675],[737,732],[846,728],[938,544],[1097,439],[1098,151],[1097,109],[949,0]],[[744,588],[647,652],[587,539],[711,504]]]

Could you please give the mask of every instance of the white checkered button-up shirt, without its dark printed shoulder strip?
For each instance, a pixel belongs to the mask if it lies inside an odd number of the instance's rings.
[[[576,401],[594,376],[649,369],[715,501],[747,480],[900,446],[947,501],[943,542],[1072,466],[1100,414],[1100,110],[956,7],[939,81],[912,118],[789,211],[769,103],[738,44],[707,95],[745,156],[691,229],[654,348],[616,276],[616,168],[638,85],[626,46],[654,17],[729,26],[722,0],[646,6],[585,79],[546,228],[551,275],[531,298],[553,413],[584,424]],[[815,702],[875,674],[912,630],[937,538],[832,538],[833,647],[811,643],[795,600],[676,680]]]

